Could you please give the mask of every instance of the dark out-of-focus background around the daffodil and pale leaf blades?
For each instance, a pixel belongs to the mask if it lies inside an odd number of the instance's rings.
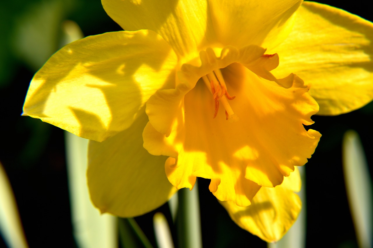
[[[320,1],[372,21],[369,1]],[[38,119],[21,117],[34,73],[62,45],[62,23],[76,22],[84,36],[121,28],[107,16],[100,0],[13,0],[0,8],[0,162],[12,185],[30,247],[76,247],[70,220],[64,133]],[[336,117],[314,116],[312,128],[323,137],[305,166],[307,247],[357,247],[342,173],[342,137],[353,129],[361,136],[372,178],[373,104]],[[204,247],[266,247],[233,223],[208,189],[198,181]],[[0,199],[1,201],[1,199]],[[303,203],[306,204],[306,203]],[[175,226],[165,204],[162,211]],[[135,218],[155,245],[153,215]],[[176,240],[175,240],[176,241]],[[0,247],[5,247],[0,239]]]

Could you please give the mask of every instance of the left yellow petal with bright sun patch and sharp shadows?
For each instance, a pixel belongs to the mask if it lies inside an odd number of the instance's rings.
[[[176,55],[153,31],[89,36],[35,74],[23,115],[102,141],[128,128],[156,90],[173,84]]]

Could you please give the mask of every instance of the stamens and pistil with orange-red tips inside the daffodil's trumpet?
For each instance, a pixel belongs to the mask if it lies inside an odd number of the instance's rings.
[[[216,117],[217,111],[219,110],[219,102],[222,102],[225,108],[225,116],[227,120],[229,120],[229,122],[238,121],[239,117],[233,112],[231,105],[228,103],[228,99],[233,100],[236,96],[229,95],[221,71],[219,69],[213,70],[209,74],[203,76],[202,79],[213,95],[213,100],[215,103],[215,112],[213,118]]]

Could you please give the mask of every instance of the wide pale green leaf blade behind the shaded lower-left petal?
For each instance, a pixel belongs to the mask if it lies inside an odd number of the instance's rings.
[[[87,187],[88,140],[65,131],[73,235],[79,248],[117,247],[116,218],[100,214]]]

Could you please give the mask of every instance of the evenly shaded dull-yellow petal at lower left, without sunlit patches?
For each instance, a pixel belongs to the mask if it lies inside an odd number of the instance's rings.
[[[88,188],[101,212],[138,216],[164,204],[176,192],[164,174],[166,157],[142,147],[143,112],[127,130],[104,142],[90,141]]]

